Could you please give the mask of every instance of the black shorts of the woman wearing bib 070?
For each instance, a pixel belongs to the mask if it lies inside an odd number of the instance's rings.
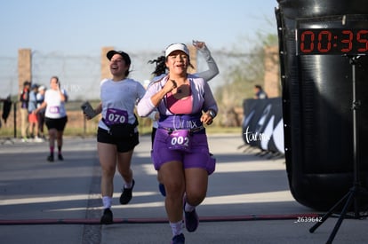
[[[97,141],[116,145],[117,152],[119,153],[129,152],[140,144],[138,132],[134,133],[131,138],[114,138],[108,134],[108,130],[101,129],[100,127],[97,130]]]

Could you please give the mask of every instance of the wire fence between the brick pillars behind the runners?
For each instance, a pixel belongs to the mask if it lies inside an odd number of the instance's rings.
[[[117,48],[118,49],[118,48]],[[131,78],[144,83],[152,77],[151,73],[155,69],[155,65],[148,64],[148,60],[156,59],[156,57],[163,55],[163,52],[157,51],[140,51],[140,52],[130,52],[132,58],[131,66]],[[228,83],[226,77],[228,70],[240,63],[242,60],[248,59],[250,53],[239,53],[224,50],[212,50],[212,56],[216,60],[218,67],[220,69],[220,74],[212,79],[210,86],[215,94],[216,89],[221,85]],[[204,58],[200,54],[197,56],[196,60],[196,70],[201,72],[207,69],[207,65]],[[80,104],[84,100],[97,101],[100,97],[100,75],[101,64],[100,64],[100,52],[96,51],[91,55],[70,55],[63,54],[60,52],[43,53],[42,51],[32,51],[32,82],[37,84],[43,84],[46,87],[49,84],[49,80],[52,75],[57,75],[60,78],[60,83],[63,89],[68,91],[69,103],[69,127],[68,130],[72,130],[75,127],[74,133],[76,135],[84,135],[85,133],[91,133],[90,129],[93,131],[97,123],[84,122],[83,115],[80,111]],[[19,99],[18,91],[18,58],[17,57],[1,57],[0,56],[0,98],[5,98],[8,95],[12,96],[12,102],[16,103]],[[244,97],[233,98],[239,101],[239,105],[242,104]],[[0,104],[1,105],[1,104]],[[19,106],[18,106],[19,107]],[[9,115],[9,120],[4,124],[3,130],[0,130],[0,136],[4,133],[7,135],[15,134],[13,131],[17,132],[17,136],[20,136],[18,130],[20,130],[20,115],[18,111],[14,111],[17,107],[12,108],[12,112]],[[225,115],[225,120],[228,121],[229,126],[239,125],[239,122],[243,119],[243,113],[241,107],[235,110],[236,119],[229,119],[228,114]],[[19,109],[18,109],[19,110]],[[224,109],[223,109],[224,110]],[[0,109],[2,113],[3,109]],[[14,117],[14,114],[16,115]],[[14,123],[14,119],[15,122]],[[219,116],[217,121],[222,121],[223,118]],[[233,121],[229,123],[229,121]],[[147,124],[148,122],[143,122]],[[92,125],[93,124],[93,125]],[[226,125],[226,122],[221,122],[221,124]],[[92,127],[92,128],[90,128]],[[7,132],[4,132],[6,128]],[[13,130],[14,129],[14,130]]]

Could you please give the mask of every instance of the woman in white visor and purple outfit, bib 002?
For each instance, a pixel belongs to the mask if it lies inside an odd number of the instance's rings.
[[[171,44],[165,59],[168,75],[148,87],[137,112],[140,116],[148,116],[155,109],[160,113],[152,158],[166,190],[172,243],[184,243],[183,209],[188,232],[195,232],[196,206],[204,201],[208,176],[215,169],[204,124],[212,124],[218,107],[208,83],[188,74],[190,60],[185,44]]]

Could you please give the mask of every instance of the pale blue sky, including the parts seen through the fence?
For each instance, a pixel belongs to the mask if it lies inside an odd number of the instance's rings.
[[[70,98],[96,98],[102,47],[128,52],[130,76],[143,82],[153,71],[149,59],[170,43],[193,39],[206,42],[218,63],[214,88],[229,63],[226,54],[216,54],[252,51],[256,33],[276,35],[276,6],[276,0],[0,1],[0,97],[18,93],[19,49],[32,50],[32,82],[47,85],[58,75]]]

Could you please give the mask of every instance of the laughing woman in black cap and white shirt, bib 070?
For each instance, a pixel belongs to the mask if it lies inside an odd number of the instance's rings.
[[[100,105],[94,114],[102,114],[97,131],[97,149],[101,166],[101,195],[103,215],[101,224],[112,224],[111,211],[114,192],[113,180],[117,170],[124,180],[120,203],[128,204],[132,200],[135,184],[131,169],[132,153],[139,144],[138,122],[134,114],[137,101],[146,92],[143,85],[128,78],[131,58],[124,51],[108,51],[112,78],[100,83]],[[92,119],[85,114],[87,119]]]

